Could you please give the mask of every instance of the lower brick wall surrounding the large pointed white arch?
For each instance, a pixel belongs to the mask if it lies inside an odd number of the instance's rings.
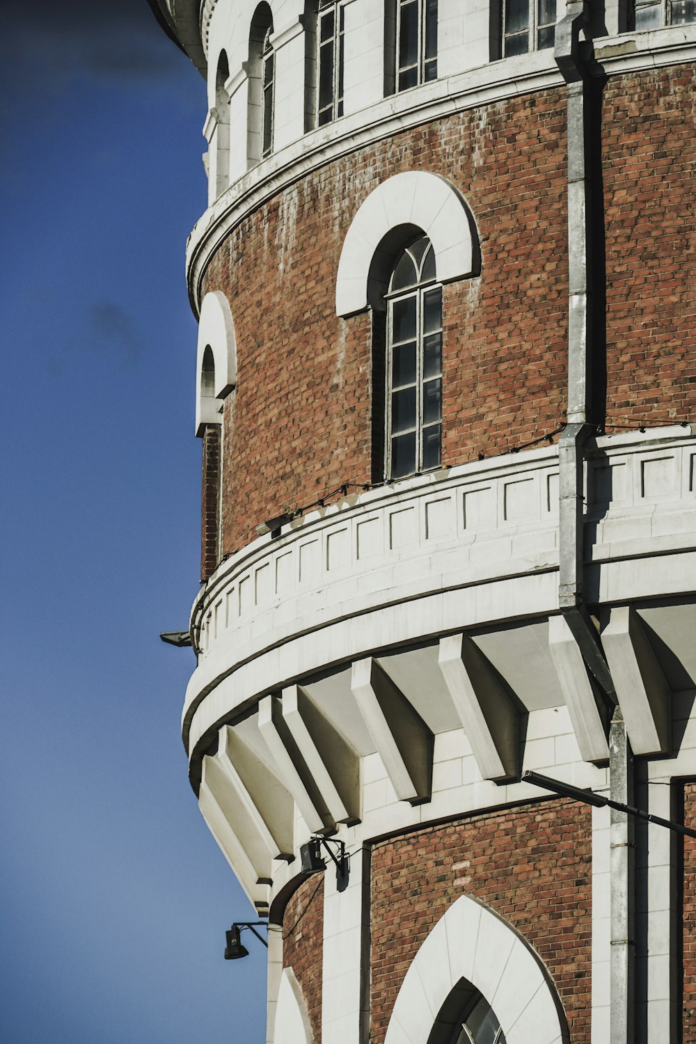
[[[553,801],[429,827],[376,845],[371,1044],[382,1044],[418,947],[463,894],[504,917],[545,962],[571,1044],[590,1044],[592,818]]]

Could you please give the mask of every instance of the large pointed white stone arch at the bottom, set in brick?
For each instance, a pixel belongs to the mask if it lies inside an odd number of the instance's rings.
[[[491,909],[460,896],[406,973],[385,1044],[426,1044],[453,988],[466,979],[488,1001],[507,1044],[568,1044],[560,1001],[530,946]]]

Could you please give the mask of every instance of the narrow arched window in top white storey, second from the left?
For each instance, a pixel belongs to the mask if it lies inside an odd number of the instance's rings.
[[[267,3],[254,11],[249,31],[247,165],[254,167],[273,149],[275,56],[270,40],[273,19]]]

